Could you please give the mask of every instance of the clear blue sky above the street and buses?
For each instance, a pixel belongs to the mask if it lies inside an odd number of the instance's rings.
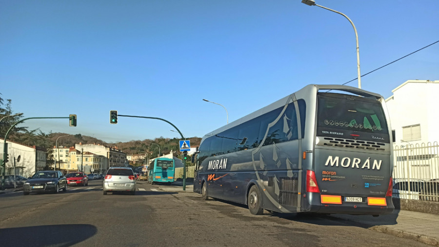
[[[439,40],[438,0],[317,0],[359,34],[361,74]],[[343,16],[300,0],[0,0],[0,93],[43,132],[106,142],[202,137],[311,83],[357,77]],[[439,80],[439,43],[362,77],[385,98]],[[350,82],[358,86],[358,82]]]

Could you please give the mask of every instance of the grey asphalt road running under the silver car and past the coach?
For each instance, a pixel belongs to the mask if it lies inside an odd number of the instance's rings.
[[[251,215],[245,206],[138,182],[102,194],[102,180],[59,194],[0,195],[1,246],[425,246],[315,215]]]

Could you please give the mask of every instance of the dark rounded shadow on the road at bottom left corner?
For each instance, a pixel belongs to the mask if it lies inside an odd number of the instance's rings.
[[[50,225],[0,229],[1,246],[58,246],[76,245],[98,232],[96,226]]]

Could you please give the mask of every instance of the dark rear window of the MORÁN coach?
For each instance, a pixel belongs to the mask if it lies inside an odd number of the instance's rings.
[[[385,115],[378,101],[352,95],[319,93],[317,107],[320,136],[328,134],[346,138],[349,134],[354,135],[352,132],[389,135]]]

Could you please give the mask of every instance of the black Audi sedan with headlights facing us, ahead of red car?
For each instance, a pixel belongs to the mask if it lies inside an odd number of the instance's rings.
[[[67,190],[67,179],[60,171],[38,171],[27,180],[23,185],[23,194],[29,195],[30,192],[54,193]]]

